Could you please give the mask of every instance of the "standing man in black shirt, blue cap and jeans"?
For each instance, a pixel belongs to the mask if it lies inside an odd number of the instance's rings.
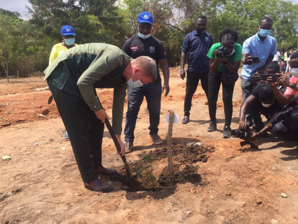
[[[161,94],[164,90],[166,90],[165,96],[167,96],[170,91],[170,71],[162,42],[150,34],[152,27],[153,16],[148,12],[142,12],[138,18],[139,33],[128,39],[122,47],[122,50],[133,59],[139,56],[149,56],[154,59],[156,61],[157,68],[158,63],[161,65],[164,76],[164,84],[161,85],[161,78],[159,70],[157,69],[158,74],[155,82],[142,86],[135,85],[128,87],[128,108],[124,129],[126,153],[130,152],[134,147],[134,129],[136,127],[136,119],[144,96],[146,97],[147,107],[149,110],[150,125],[148,129],[150,130],[150,138],[156,145],[162,143],[162,139],[158,135]]]

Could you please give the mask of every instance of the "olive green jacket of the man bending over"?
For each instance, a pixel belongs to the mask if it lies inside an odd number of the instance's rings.
[[[44,71],[50,85],[83,99],[92,111],[101,109],[95,88],[114,88],[113,129],[122,131],[127,83],[122,73],[133,60],[120,48],[103,43],[72,47],[58,56]],[[100,98],[100,96],[99,96]]]

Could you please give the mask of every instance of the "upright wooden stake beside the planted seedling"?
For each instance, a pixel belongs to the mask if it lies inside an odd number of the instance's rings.
[[[167,133],[167,151],[168,151],[168,168],[170,173],[170,186],[174,185],[174,169],[172,159],[172,134],[173,134],[173,122],[174,122],[174,111],[169,110],[169,129]]]

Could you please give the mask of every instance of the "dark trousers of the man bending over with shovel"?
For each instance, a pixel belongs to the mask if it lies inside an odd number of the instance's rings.
[[[104,124],[84,100],[66,93],[48,82],[84,182],[97,179],[95,167],[101,166]]]

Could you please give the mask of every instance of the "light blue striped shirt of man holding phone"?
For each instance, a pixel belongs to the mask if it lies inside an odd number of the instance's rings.
[[[249,53],[251,57],[259,57],[260,59],[258,64],[243,65],[241,77],[252,81],[252,76],[265,65],[268,56],[277,54],[276,39],[272,36],[267,36],[264,42],[261,42],[256,33],[243,42],[242,54],[244,53]]]

